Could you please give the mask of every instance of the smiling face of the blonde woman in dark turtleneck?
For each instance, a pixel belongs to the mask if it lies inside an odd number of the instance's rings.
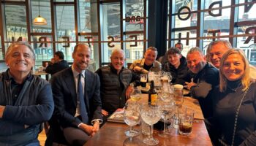
[[[243,77],[245,64],[241,55],[229,55],[222,66],[222,74],[230,81],[240,80]]]

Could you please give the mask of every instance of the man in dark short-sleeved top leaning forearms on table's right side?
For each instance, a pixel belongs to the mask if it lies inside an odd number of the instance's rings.
[[[210,92],[219,85],[219,70],[206,62],[202,51],[192,47],[187,53],[187,66],[195,74],[191,82],[186,82],[192,97],[198,99],[204,118],[213,114]]]

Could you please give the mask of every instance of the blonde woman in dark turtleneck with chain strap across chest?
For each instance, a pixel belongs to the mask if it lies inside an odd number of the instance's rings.
[[[250,80],[249,63],[242,50],[230,49],[222,56],[219,78],[211,123],[218,131],[210,134],[217,136],[216,145],[255,145],[256,83]]]

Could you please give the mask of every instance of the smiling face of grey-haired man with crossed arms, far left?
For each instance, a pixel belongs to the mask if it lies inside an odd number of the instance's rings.
[[[33,53],[26,45],[15,45],[10,48],[6,63],[10,66],[11,74],[29,74],[34,66]]]

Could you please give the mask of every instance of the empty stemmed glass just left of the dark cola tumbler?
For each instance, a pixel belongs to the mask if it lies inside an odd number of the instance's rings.
[[[170,133],[167,132],[167,123],[166,121],[173,116],[175,107],[174,102],[171,100],[168,101],[159,101],[159,106],[162,109],[162,120],[164,120],[164,130],[161,131],[158,135],[159,137],[170,137]]]

